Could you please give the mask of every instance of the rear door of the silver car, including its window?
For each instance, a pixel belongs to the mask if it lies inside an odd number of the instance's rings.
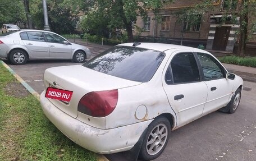
[[[29,31],[20,33],[20,37],[30,52],[30,58],[49,58],[49,47],[40,31]]]

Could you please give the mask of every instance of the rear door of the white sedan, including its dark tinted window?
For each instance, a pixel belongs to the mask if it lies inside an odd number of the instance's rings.
[[[177,116],[177,127],[199,118],[207,99],[207,85],[200,79],[192,52],[172,54],[164,72],[163,88]]]

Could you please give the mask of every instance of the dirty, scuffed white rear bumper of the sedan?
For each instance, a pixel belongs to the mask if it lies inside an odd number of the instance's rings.
[[[45,116],[69,139],[85,149],[100,154],[130,150],[139,140],[149,121],[132,125],[99,129],[77,120],[55,107],[47,98],[45,90],[40,95],[40,103]]]

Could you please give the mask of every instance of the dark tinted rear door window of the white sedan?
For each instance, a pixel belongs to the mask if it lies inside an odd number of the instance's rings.
[[[171,61],[173,83],[200,81],[198,66],[193,53],[179,53]]]

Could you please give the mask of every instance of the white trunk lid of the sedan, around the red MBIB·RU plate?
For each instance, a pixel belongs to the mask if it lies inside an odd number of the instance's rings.
[[[141,82],[97,72],[81,65],[48,68],[44,72],[45,88],[73,91],[70,102],[49,99],[57,108],[71,117],[77,117],[79,100],[91,91],[103,91],[139,85]]]

